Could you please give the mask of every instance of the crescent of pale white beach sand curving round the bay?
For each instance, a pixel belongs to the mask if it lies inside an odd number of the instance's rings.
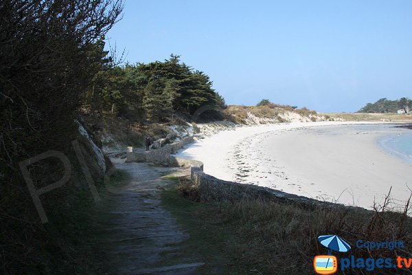
[[[371,208],[392,186],[393,199],[405,201],[412,164],[382,151],[376,139],[410,130],[374,125],[365,131],[343,124],[361,122],[240,127],[200,140],[179,155],[201,160],[205,173],[220,179],[306,197]]]

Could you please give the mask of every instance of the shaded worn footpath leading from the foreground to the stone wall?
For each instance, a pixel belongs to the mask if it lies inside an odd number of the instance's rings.
[[[182,174],[187,170],[146,163],[118,162],[115,166],[131,178],[128,184],[102,195],[98,207],[98,234],[102,236],[98,247],[108,259],[105,265],[111,267],[106,274],[194,274],[203,263],[182,259],[181,263],[167,264],[179,243],[189,236],[160,200],[161,188],[172,182],[162,174]]]

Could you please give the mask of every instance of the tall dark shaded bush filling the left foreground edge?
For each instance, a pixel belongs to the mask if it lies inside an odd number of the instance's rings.
[[[117,0],[0,3],[0,274],[92,270],[91,227],[85,221],[93,198],[71,141],[93,151],[76,120],[90,80],[105,62],[95,54],[96,43],[122,10]],[[49,217],[43,224],[19,162],[50,150],[66,155],[73,173],[65,186],[42,195]],[[90,155],[84,158],[94,163]],[[66,169],[49,157],[27,170],[34,186],[42,188]],[[98,184],[102,171],[90,171]]]

